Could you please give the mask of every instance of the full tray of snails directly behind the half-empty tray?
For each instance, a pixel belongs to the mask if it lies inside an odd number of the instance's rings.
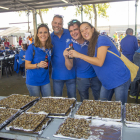
[[[122,104],[120,101],[84,100],[78,107],[74,117],[121,121]]]

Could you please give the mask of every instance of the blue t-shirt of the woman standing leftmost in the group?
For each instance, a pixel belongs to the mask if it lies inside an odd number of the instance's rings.
[[[33,58],[33,49],[35,50],[35,55]],[[35,47],[30,44],[26,50],[25,60],[31,61],[32,64],[39,63],[40,61],[45,60],[46,54],[48,55],[48,61],[51,60],[51,49],[46,49],[43,51],[39,47]],[[48,64],[49,64],[48,63]],[[42,86],[50,83],[49,79],[49,69],[36,68],[36,69],[27,69],[26,84],[32,86]]]

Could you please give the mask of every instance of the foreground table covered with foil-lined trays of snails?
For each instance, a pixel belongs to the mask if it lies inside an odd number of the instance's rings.
[[[2,126],[0,137],[3,138],[20,140],[139,140],[140,138],[140,128],[135,125],[126,126],[126,123],[130,123],[126,121],[128,120],[126,116],[129,116],[132,110],[127,104],[123,107],[120,102],[92,100],[85,100],[81,104],[74,98],[45,97],[40,99],[22,95],[29,98],[25,104],[20,97],[10,105],[6,102],[7,100],[9,102],[12,96],[8,98],[0,96],[0,112],[7,109],[6,115],[9,114],[8,112],[11,113],[9,117],[2,120],[3,122],[0,122]],[[5,100],[2,100],[4,98]],[[87,106],[84,108],[85,103]],[[21,105],[17,107],[14,104]],[[129,112],[126,111],[128,109]],[[136,124],[139,125],[139,123]]]

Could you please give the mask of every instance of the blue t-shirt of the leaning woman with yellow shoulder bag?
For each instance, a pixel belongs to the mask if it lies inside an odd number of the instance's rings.
[[[101,46],[109,46],[108,50],[120,56],[119,51],[108,37],[99,36],[95,47],[95,57],[97,57],[97,49]],[[124,62],[110,52],[107,52],[102,67],[95,65],[92,66],[102,85],[107,90],[116,88],[130,79],[130,71]]]

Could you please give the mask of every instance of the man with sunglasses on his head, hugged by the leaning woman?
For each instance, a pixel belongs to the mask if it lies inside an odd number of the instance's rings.
[[[80,33],[80,22],[78,20],[70,21],[68,23],[68,29],[72,39],[67,43],[67,47],[70,43],[73,43],[75,51],[87,55],[88,42],[82,38]],[[81,102],[84,99],[89,99],[89,87],[92,89],[94,99],[98,100],[100,96],[101,83],[92,66],[82,59],[69,59],[68,48],[65,49],[63,55],[65,57],[65,65],[69,70],[72,69],[73,66],[76,67],[76,82]]]

